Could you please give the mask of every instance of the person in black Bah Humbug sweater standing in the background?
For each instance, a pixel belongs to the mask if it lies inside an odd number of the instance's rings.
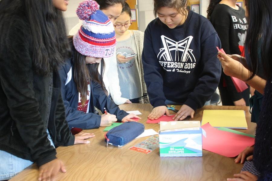
[[[208,19],[211,21],[227,54],[243,56],[248,21],[243,8],[233,0],[210,0]],[[222,71],[219,92],[223,106],[249,106],[249,88],[238,92],[232,78]]]

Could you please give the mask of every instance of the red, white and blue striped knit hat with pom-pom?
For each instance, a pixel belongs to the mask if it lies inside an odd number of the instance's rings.
[[[87,0],[76,9],[83,24],[73,37],[75,49],[85,56],[105,58],[113,56],[116,37],[112,22],[99,10],[96,1]]]

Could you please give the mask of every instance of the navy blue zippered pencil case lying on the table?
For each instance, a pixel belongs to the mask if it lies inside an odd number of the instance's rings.
[[[105,133],[108,144],[122,147],[144,132],[144,125],[139,122],[124,122]]]

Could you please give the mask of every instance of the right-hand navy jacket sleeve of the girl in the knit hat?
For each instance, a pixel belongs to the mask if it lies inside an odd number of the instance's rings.
[[[101,84],[96,81],[92,81],[94,90],[94,106],[96,106],[102,113],[104,113],[104,107],[110,114],[114,114],[118,121],[121,121],[125,116],[128,115],[123,110],[120,110],[119,107],[105,94],[105,91],[102,89]]]

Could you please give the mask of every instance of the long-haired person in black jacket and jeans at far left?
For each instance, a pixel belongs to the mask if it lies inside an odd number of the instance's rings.
[[[0,180],[33,162],[39,180],[66,172],[55,147],[89,143],[65,121],[58,65],[69,50],[64,0],[0,1]]]

